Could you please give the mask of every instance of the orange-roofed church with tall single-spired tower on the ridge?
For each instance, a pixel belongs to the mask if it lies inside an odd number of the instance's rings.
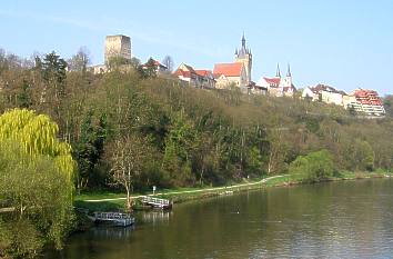
[[[243,33],[242,46],[235,49],[234,62],[214,64],[213,76],[216,81],[215,87],[225,89],[231,84],[245,88],[251,84],[252,71],[252,53],[245,46],[245,37]]]

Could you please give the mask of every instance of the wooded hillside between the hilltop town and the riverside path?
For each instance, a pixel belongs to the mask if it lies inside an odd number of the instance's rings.
[[[138,161],[133,189],[283,173],[299,156],[322,149],[339,170],[393,168],[390,116],[359,119],[319,102],[194,89],[138,64],[93,76],[85,67],[66,72],[67,62],[54,53],[28,67],[6,61],[0,111],[19,107],[49,114],[73,148],[81,189],[115,188],[117,151],[127,143]],[[390,103],[387,98],[389,111]]]

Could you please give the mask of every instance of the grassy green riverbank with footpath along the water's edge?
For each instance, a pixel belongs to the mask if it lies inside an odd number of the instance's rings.
[[[335,177],[324,179],[323,181],[342,181],[342,180],[359,180],[370,178],[390,178],[393,177],[391,172],[340,172]],[[256,190],[269,187],[284,187],[284,186],[298,186],[310,185],[312,182],[304,181],[300,176],[282,175],[266,177],[254,181],[244,180],[244,183],[216,187],[216,188],[182,188],[163,190],[154,193],[154,197],[169,199],[173,203],[180,203],[191,200],[200,200],[211,197],[233,195],[235,192],[245,190]],[[132,196],[133,199],[139,199],[142,196],[153,196],[152,193],[141,193]],[[90,211],[121,211],[124,210],[125,197],[123,193],[112,192],[94,192],[83,193],[77,197],[75,207],[88,209]]]

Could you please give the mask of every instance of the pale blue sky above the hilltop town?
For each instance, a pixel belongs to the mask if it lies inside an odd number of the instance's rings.
[[[0,48],[21,57],[87,47],[103,63],[108,34],[131,37],[132,56],[177,66],[232,62],[244,32],[252,80],[291,66],[298,88],[324,83],[393,93],[393,0],[28,1],[0,6]]]

